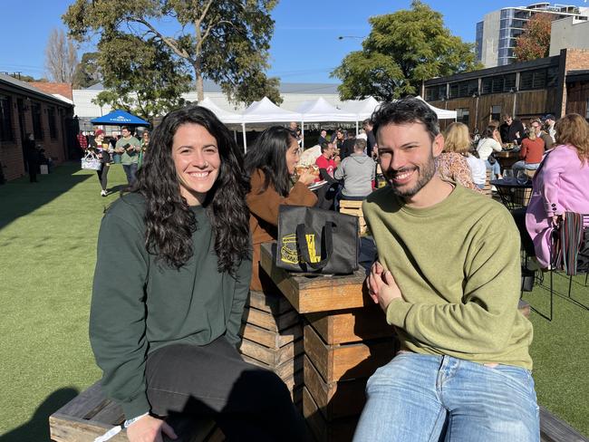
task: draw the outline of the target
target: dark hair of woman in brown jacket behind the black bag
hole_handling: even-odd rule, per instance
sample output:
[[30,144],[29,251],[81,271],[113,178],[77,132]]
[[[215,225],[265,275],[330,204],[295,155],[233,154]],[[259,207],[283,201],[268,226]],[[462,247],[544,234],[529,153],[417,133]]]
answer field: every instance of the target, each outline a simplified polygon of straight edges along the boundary
[[254,147],[247,149],[247,175],[251,177],[259,168],[266,177],[260,193],[272,185],[279,195],[288,195],[290,174],[286,167],[286,151],[293,141],[296,141],[296,132],[282,126],[272,126],[257,137]]

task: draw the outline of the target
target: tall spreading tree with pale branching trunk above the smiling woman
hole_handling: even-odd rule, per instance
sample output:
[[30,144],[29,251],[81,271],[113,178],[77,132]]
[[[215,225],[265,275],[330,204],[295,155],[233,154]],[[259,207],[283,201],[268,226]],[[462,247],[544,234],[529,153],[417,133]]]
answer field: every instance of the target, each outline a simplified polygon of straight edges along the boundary
[[[277,94],[275,81],[263,80],[276,0],[76,0],[63,21],[78,41],[92,33],[102,40],[123,34],[158,43],[194,72],[198,101],[203,79],[217,82],[231,101],[249,103],[246,85],[264,86]],[[169,28],[174,28],[169,30]],[[164,31],[166,29],[166,31]],[[168,32],[169,31],[169,32]],[[105,73],[106,76],[106,73]],[[256,88],[257,89],[257,88]]]

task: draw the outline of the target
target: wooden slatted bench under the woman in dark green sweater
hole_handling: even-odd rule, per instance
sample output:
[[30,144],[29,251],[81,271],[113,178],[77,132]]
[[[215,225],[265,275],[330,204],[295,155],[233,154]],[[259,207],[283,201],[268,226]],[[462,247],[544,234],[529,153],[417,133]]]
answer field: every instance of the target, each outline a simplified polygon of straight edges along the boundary
[[[121,407],[102,394],[100,381],[49,417],[51,440],[54,442],[93,442],[106,431],[124,421]],[[217,442],[224,440],[215,422],[210,419],[181,418],[171,422],[178,435],[176,442]],[[164,437],[169,441],[168,437]],[[110,442],[129,442],[121,431]]]

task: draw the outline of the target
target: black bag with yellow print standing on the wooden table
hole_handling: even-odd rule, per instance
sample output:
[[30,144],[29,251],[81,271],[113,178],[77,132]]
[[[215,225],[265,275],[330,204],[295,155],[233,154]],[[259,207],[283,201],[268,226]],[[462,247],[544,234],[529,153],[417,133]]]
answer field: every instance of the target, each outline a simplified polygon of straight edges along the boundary
[[358,269],[358,218],[316,207],[278,208],[277,267],[311,274]]

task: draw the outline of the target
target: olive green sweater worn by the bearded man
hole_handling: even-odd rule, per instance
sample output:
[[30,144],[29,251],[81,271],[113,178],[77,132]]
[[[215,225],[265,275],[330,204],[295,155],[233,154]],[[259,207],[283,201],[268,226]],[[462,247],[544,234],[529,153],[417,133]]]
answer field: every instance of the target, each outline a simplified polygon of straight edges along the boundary
[[410,208],[383,187],[362,210],[401,289],[386,312],[401,348],[531,370],[532,325],[517,311],[520,240],[505,207],[456,186]]

